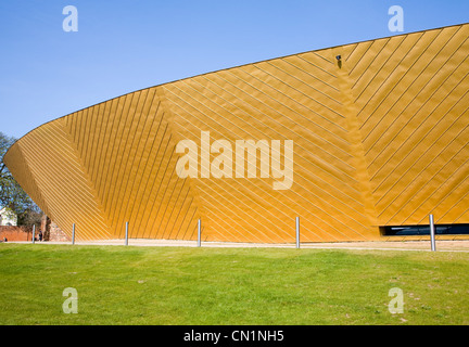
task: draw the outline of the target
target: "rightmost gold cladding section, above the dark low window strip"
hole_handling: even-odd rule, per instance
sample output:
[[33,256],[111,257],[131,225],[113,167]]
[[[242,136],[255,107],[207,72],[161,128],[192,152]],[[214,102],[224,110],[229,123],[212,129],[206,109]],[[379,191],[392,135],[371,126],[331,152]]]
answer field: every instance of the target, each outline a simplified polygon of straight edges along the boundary
[[352,54],[381,226],[427,223],[429,214],[453,223],[465,215],[468,37],[467,25],[454,26],[383,39],[383,49],[359,60]]

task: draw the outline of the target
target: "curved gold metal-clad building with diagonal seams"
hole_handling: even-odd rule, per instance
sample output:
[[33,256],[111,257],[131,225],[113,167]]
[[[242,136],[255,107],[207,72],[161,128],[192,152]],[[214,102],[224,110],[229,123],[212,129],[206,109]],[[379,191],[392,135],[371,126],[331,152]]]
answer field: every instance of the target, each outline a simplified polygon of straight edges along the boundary
[[[77,240],[383,240],[469,223],[469,25],[305,52],[115,98],[4,162]],[[382,230],[382,229],[381,229]]]

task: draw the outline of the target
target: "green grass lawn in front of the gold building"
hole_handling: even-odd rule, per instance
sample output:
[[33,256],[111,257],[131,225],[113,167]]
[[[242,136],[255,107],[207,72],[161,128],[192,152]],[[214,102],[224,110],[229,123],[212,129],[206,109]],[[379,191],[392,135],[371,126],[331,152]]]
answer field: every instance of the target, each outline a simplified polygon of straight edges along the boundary
[[468,284],[468,253],[0,244],[2,325],[466,325]]

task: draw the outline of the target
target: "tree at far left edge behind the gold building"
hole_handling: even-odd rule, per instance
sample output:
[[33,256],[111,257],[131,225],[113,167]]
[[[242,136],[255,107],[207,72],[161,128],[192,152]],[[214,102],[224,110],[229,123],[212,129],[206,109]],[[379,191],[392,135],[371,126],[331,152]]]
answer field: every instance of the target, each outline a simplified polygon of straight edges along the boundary
[[3,156],[15,141],[15,138],[8,137],[0,131],[0,206],[14,211],[18,216],[18,224],[37,223],[37,220],[40,222],[41,210],[16,182],[3,163]]

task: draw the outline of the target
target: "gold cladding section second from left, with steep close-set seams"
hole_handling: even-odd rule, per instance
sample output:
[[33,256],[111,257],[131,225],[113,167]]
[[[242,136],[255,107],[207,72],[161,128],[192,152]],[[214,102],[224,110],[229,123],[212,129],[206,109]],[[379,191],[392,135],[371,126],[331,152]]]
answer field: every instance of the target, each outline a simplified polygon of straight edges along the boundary
[[[197,206],[174,177],[174,143],[156,88],[127,94],[67,118],[116,237],[191,240]],[[182,209],[180,214],[179,211]]]

